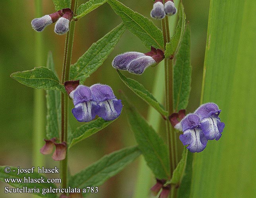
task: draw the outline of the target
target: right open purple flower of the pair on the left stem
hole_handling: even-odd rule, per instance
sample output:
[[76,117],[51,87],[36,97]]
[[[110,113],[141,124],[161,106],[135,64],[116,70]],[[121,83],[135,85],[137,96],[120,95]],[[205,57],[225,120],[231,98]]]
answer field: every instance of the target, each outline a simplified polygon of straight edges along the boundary
[[90,89],[100,106],[98,116],[104,120],[114,120],[121,114],[123,105],[121,100],[115,97],[110,86],[94,84]]

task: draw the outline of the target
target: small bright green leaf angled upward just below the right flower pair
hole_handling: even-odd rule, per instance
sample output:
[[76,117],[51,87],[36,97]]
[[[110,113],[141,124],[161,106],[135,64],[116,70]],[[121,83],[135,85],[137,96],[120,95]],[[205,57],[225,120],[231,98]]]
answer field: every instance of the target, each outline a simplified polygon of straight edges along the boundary
[[184,172],[186,169],[186,160],[188,156],[188,149],[186,147],[183,148],[182,157],[175,170],[173,171],[173,176],[171,178],[170,183],[172,184],[180,184],[182,177],[184,176]]

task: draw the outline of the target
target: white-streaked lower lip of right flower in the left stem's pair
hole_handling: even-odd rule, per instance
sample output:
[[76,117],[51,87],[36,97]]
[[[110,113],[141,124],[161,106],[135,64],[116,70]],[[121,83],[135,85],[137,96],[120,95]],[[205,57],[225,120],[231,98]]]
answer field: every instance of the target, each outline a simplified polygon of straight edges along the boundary
[[121,100],[118,99],[101,101],[98,104],[101,107],[98,111],[98,116],[104,120],[116,119],[118,116],[120,116],[123,107]]

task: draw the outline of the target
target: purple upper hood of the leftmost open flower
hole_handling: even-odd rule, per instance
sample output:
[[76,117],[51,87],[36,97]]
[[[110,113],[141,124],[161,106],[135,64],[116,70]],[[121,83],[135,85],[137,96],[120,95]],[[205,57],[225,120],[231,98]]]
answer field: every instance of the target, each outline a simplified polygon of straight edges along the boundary
[[91,89],[84,85],[79,85],[74,91],[70,92],[69,95],[73,99],[75,106],[78,103],[84,103],[86,101],[93,100]]

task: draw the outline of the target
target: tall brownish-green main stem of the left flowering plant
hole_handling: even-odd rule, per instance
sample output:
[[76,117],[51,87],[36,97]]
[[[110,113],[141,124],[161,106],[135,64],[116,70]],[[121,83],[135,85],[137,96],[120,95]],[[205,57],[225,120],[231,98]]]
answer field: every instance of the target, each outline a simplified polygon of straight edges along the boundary
[[[77,1],[71,1],[71,10],[76,13]],[[69,31],[66,33],[65,49],[64,49],[64,59],[62,67],[62,78],[61,83],[69,80],[70,75],[70,65],[72,59],[72,49],[74,42],[75,33],[75,21],[70,22]],[[67,142],[68,140],[68,95],[61,93],[61,142]],[[68,187],[68,150],[66,158],[60,161],[61,167],[61,178],[62,178],[62,188]]]

